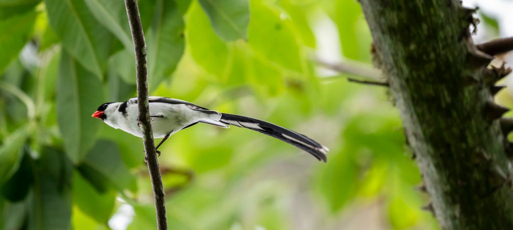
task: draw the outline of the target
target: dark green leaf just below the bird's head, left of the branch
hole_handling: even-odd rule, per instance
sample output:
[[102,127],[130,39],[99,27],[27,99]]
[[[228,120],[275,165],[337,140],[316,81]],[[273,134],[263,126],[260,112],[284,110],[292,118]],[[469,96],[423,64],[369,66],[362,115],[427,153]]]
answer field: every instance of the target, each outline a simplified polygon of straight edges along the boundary
[[[119,191],[124,189],[135,191],[137,189],[135,177],[123,163],[120,150],[114,142],[98,140],[80,167],[83,166],[93,172],[93,174],[84,175],[89,181],[106,180],[108,185]],[[91,178],[91,175],[101,178]]]

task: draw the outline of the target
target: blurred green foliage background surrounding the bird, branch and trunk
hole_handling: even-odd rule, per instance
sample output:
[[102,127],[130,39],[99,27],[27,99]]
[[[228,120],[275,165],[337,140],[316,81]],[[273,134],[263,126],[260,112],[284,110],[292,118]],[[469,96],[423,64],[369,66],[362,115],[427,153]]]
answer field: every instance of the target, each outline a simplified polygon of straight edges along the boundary
[[[481,8],[476,43],[513,35],[513,2],[463,4]],[[150,95],[330,148],[324,164],[238,127],[174,134],[159,157],[170,229],[438,229],[386,89],[348,82],[383,80],[357,1],[139,5]],[[142,140],[90,117],[136,96],[123,1],[0,0],[0,18],[0,229],[155,229]]]

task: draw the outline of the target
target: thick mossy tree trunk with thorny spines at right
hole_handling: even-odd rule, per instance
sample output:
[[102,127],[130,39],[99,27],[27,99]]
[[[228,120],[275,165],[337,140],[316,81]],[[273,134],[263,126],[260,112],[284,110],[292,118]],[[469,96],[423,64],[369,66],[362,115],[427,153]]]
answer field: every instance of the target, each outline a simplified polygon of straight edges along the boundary
[[375,64],[387,76],[443,229],[513,229],[508,143],[473,10],[456,0],[361,0]]

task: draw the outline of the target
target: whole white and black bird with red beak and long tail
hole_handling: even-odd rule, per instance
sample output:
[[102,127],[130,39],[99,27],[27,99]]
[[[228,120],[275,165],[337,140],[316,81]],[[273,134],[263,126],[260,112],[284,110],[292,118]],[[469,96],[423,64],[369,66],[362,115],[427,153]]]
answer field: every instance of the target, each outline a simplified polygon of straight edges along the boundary
[[[182,129],[198,123],[229,128],[234,125],[258,131],[307,151],[319,160],[326,162],[328,148],[307,136],[269,122],[244,116],[209,110],[190,102],[164,97],[149,97],[150,119],[154,138],[163,138],[158,149],[168,137]],[[104,103],[91,117],[102,119],[107,125],[142,137],[143,132],[137,121],[139,110],[137,98],[126,102]]]

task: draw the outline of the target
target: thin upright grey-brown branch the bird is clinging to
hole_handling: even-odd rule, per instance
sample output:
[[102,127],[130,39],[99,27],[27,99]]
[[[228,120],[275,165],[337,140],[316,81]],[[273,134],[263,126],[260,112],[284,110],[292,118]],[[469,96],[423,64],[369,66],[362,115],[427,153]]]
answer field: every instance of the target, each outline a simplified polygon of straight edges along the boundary
[[151,130],[150,114],[148,106],[148,80],[146,68],[146,42],[144,40],[143,26],[139,16],[139,7],[136,0],[125,0],[128,22],[132,32],[132,40],[135,51],[135,66],[137,75],[137,105],[139,107],[139,122],[143,131],[144,151],[146,162],[150,172],[151,185],[153,186],[153,197],[155,199],[155,211],[157,217],[157,229],[167,229],[166,198],[159,162],[153,143],[153,132]]

